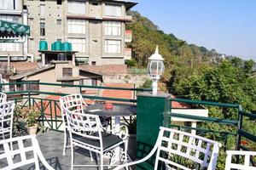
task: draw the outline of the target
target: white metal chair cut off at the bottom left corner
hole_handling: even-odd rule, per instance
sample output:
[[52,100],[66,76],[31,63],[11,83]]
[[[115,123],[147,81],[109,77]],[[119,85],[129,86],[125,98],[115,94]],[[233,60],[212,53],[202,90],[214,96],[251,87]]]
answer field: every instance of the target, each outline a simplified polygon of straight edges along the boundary
[[[26,144],[24,144],[25,141]],[[17,143],[17,147],[15,147],[15,150],[11,150],[9,148],[9,145],[12,143]],[[43,163],[44,167],[49,170],[54,170],[54,168],[50,167],[48,162],[44,159],[44,156],[38,144],[38,139],[36,139],[36,135],[28,135],[16,137],[13,139],[0,140],[0,148],[1,170],[16,169],[17,167],[23,167],[31,163],[34,163],[35,169],[39,170],[38,158]],[[14,161],[13,157],[19,158],[15,159]]]

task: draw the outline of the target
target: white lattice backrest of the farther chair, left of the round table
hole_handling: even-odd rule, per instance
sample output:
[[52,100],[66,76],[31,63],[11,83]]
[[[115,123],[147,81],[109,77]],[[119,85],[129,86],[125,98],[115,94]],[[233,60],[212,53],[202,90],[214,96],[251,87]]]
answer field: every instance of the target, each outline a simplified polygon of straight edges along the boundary
[[77,113],[84,113],[84,107],[87,106],[84,103],[84,99],[82,94],[71,94],[64,97],[61,97],[61,113],[62,115],[66,115],[67,113],[63,108],[68,111],[75,111]]

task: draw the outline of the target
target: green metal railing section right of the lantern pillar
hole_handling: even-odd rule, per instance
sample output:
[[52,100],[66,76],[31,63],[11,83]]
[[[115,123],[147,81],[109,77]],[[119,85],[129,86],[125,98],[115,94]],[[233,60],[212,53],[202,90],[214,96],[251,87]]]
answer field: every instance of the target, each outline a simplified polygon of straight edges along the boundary
[[[172,107],[172,102],[180,102],[184,104],[190,104],[190,105],[205,105],[205,106],[216,106],[216,107],[222,107],[222,108],[231,108],[234,109],[237,113],[236,119],[224,119],[224,118],[218,118],[218,117],[204,117],[204,116],[191,116],[191,115],[183,115],[178,114],[172,111],[174,109]],[[224,130],[212,130],[212,129],[205,129],[201,127],[189,127],[189,126],[181,126],[181,125],[175,125],[171,123],[171,127],[177,127],[179,129],[187,129],[187,130],[196,130],[197,133],[215,133],[218,134],[220,137],[224,140],[224,150],[225,144],[227,143],[227,139],[229,136],[236,138],[236,150],[250,150],[246,146],[244,146],[241,143],[241,138],[245,138],[247,140],[250,140],[252,142],[256,143],[256,136],[255,134],[248,133],[245,130],[243,130],[242,125],[244,118],[247,117],[250,120],[256,121],[256,115],[253,115],[252,113],[247,113],[245,111],[242,111],[241,105],[238,104],[224,104],[224,103],[218,103],[218,102],[208,102],[208,101],[196,101],[196,100],[190,100],[190,99],[170,99],[171,102],[171,111],[168,116],[170,117],[177,117],[177,118],[183,118],[183,119],[189,119],[189,120],[195,120],[200,122],[210,122],[210,123],[218,123],[222,124],[224,126],[229,126],[229,131]],[[256,123],[255,123],[256,125]],[[232,130],[232,132],[230,132]]]

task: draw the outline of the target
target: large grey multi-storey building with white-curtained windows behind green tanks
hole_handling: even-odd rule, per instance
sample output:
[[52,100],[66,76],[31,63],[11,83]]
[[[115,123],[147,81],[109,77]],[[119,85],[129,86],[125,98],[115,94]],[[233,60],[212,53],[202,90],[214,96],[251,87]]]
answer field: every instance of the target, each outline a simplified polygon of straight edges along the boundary
[[[137,3],[129,0],[2,0],[0,17],[31,26],[24,44],[0,43],[0,59],[38,58],[39,42],[71,42],[76,60],[90,65],[124,64],[131,58],[131,22],[126,11]],[[7,5],[6,5],[7,4]],[[2,6],[1,6],[2,5]],[[50,47],[49,47],[50,49]],[[14,58],[13,56],[16,56]]]

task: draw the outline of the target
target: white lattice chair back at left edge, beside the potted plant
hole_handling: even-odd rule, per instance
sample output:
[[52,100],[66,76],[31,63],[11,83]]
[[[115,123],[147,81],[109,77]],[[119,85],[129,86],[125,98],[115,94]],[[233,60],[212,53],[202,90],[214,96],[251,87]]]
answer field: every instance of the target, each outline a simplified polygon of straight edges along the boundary
[[0,104],[0,134],[10,133],[13,127],[15,101]]

